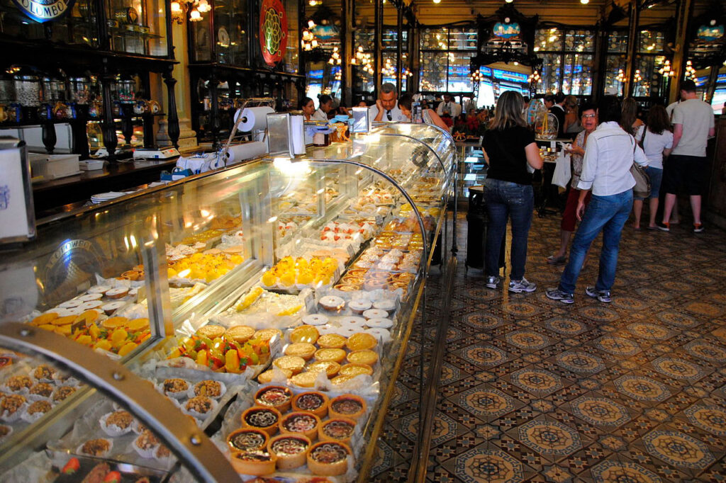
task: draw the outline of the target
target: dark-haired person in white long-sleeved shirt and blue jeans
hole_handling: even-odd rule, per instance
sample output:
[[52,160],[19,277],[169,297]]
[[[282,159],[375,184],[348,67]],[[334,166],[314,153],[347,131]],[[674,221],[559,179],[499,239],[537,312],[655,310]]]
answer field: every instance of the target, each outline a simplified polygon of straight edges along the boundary
[[[643,149],[635,139],[620,127],[621,108],[614,96],[604,96],[597,107],[600,125],[587,137],[582,160],[582,173],[577,183],[580,189],[576,215],[581,220],[570,249],[570,260],[560,277],[556,289],[545,294],[552,300],[566,304],[574,302],[575,284],[585,255],[595,237],[603,232],[603,251],[595,286],[587,286],[585,293],[600,302],[611,302],[610,290],[615,282],[618,265],[620,233],[630,215],[633,204],[632,187],[635,179],[630,174],[633,162],[648,165]],[[585,197],[592,189],[590,205],[585,210]]]

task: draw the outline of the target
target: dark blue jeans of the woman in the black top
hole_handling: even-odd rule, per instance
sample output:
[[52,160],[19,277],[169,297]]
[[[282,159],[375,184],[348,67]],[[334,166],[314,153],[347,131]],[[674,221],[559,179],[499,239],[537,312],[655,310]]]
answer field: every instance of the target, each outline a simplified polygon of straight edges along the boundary
[[532,224],[534,191],[531,185],[510,183],[487,178],[484,181],[486,212],[489,213],[489,228],[486,231],[486,253],[484,273],[499,275],[499,250],[507,230],[507,216],[512,218],[512,253],[510,276],[521,280],[527,261],[527,236]]

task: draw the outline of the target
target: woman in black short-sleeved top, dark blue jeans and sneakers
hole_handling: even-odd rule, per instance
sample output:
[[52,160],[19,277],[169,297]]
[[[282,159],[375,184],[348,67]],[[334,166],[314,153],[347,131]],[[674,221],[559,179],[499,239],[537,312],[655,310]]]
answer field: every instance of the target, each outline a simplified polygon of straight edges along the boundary
[[484,157],[489,164],[484,181],[484,199],[489,213],[486,232],[484,273],[486,286],[496,289],[499,276],[499,251],[502,247],[507,217],[512,219],[510,292],[534,292],[536,284],[524,278],[527,260],[527,236],[532,223],[534,191],[528,168],[542,168],[534,133],[524,120],[524,99],[515,91],[505,91],[497,100],[497,110],[484,136]]

